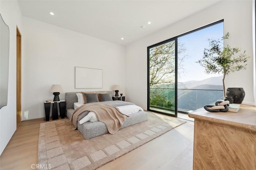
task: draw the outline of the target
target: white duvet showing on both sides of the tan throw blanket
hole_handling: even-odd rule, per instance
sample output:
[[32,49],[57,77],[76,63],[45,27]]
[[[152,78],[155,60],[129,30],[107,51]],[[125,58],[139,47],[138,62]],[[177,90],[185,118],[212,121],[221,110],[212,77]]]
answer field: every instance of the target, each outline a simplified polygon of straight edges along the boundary
[[[75,106],[75,103],[74,103]],[[137,113],[138,111],[143,111],[143,109],[137,105],[124,105],[117,107],[124,115],[129,115],[132,113]],[[89,112],[83,119],[79,121],[80,124],[85,122],[98,122],[97,116],[94,112]]]

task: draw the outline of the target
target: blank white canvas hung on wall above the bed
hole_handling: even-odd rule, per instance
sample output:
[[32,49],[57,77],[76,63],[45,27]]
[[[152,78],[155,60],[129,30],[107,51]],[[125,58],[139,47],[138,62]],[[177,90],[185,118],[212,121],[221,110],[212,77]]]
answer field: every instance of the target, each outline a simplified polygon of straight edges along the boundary
[[102,69],[75,67],[75,88],[94,89],[102,88]]

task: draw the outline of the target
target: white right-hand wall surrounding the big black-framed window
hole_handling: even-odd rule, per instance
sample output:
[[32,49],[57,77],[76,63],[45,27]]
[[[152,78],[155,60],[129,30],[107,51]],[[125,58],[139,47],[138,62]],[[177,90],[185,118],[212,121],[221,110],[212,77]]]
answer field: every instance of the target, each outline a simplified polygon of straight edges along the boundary
[[[148,46],[222,19],[224,19],[224,33],[230,33],[230,39],[225,43],[239,46],[252,56],[252,0],[219,2],[126,47],[126,98],[143,109],[147,109]],[[243,87],[246,93],[244,101],[254,102],[252,57],[247,63],[246,70],[228,75],[225,85],[226,87],[234,87],[236,84]]]

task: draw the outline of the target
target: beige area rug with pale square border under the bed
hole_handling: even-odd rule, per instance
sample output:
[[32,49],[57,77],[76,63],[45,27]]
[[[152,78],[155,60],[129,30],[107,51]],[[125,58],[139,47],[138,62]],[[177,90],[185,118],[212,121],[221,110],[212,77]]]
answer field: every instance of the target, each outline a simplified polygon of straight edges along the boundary
[[40,124],[38,169],[94,170],[186,123],[148,112],[148,121],[86,140],[68,119]]

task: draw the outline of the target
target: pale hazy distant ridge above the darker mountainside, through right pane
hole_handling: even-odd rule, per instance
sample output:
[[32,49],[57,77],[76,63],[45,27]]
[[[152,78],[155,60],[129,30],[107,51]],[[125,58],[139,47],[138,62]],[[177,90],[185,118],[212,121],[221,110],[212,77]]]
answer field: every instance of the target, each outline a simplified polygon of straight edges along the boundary
[[222,85],[222,78],[223,78],[222,76],[210,77],[208,79],[204,79],[200,81],[192,80],[192,81],[182,82],[179,84],[183,84],[188,89],[192,89],[198,85]]

